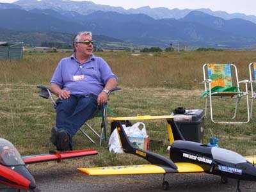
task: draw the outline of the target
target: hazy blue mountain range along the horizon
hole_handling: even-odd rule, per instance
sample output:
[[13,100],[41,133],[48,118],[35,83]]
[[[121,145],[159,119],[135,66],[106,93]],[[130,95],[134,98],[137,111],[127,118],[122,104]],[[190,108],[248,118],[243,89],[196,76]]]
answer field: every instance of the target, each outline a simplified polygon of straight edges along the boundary
[[[221,44],[227,48],[256,44],[254,22],[239,18],[223,19],[205,13],[207,10],[149,7],[124,10],[89,1],[61,0],[20,0],[13,4],[0,3],[0,9],[1,28],[30,31],[30,34],[56,31],[60,35],[60,32],[75,33],[87,29],[96,35],[115,37],[108,39],[116,42],[159,47],[168,47],[173,42],[212,47]],[[148,10],[158,15],[145,14]],[[164,18],[169,17],[171,12],[177,12],[174,14],[176,18]],[[181,12],[183,17],[179,16]],[[1,36],[0,41],[3,41]]]

